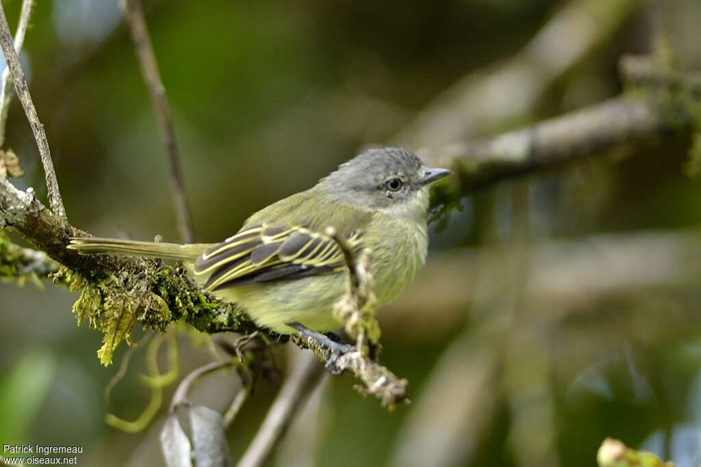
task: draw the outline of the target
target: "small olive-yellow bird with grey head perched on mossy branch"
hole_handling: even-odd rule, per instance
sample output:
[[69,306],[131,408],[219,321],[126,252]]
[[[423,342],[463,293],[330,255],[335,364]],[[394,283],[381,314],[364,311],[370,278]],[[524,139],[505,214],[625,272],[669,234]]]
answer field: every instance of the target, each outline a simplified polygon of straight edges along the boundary
[[218,244],[74,238],[81,254],[112,253],[182,260],[200,287],[237,302],[261,327],[297,332],[290,323],[326,332],[341,323],[333,305],[346,292],[343,251],[370,250],[376,305],[400,294],[426,260],[428,189],[450,174],[403,148],[373,148],[343,163],[313,188],[275,202]]

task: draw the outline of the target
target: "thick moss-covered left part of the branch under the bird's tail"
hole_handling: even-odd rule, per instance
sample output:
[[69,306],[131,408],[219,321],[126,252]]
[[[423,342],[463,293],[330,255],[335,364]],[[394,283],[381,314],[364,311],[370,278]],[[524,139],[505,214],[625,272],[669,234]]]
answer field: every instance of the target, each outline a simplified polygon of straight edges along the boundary
[[[79,323],[87,321],[104,333],[98,351],[104,365],[111,363],[122,340],[130,342],[136,323],[159,331],[181,320],[205,333],[257,330],[243,309],[201,292],[182,265],[144,258],[80,256],[66,249],[70,237],[83,237],[86,232],[55,216],[34,197],[33,190],[18,190],[5,179],[0,179],[0,227],[16,232],[36,251],[60,264],[53,281],[80,293],[73,310]],[[7,239],[2,244],[4,251],[19,248]],[[13,258],[12,267],[21,265],[16,256],[4,258]]]

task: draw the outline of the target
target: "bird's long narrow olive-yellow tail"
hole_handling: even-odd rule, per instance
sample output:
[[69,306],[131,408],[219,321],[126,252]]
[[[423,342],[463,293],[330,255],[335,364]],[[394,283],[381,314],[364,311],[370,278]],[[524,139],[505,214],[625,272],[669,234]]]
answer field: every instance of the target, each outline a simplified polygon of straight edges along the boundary
[[67,246],[81,255],[109,253],[125,256],[148,256],[168,260],[194,261],[210,244],[177,244],[163,242],[135,242],[114,238],[72,238]]

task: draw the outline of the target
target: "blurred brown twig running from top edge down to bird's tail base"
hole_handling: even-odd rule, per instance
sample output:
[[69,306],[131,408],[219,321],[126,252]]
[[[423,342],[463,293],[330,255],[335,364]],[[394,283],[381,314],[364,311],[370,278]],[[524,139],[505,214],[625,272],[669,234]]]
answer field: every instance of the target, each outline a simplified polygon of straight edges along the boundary
[[144,81],[146,81],[151,93],[151,99],[153,99],[156,107],[156,116],[158,117],[158,124],[161,126],[165,151],[168,153],[170,184],[175,200],[175,209],[177,209],[180,237],[182,237],[184,242],[192,243],[195,236],[190,210],[187,206],[182,165],[175,141],[175,132],[173,132],[172,118],[170,117],[170,105],[165,95],[161,74],[158,71],[158,63],[156,62],[156,55],[154,55],[154,48],[151,45],[149,29],[146,25],[146,20],[144,20],[144,10],[141,0],[123,0],[123,7],[136,47],[137,57],[139,57],[139,64],[141,64],[141,70],[144,74]]

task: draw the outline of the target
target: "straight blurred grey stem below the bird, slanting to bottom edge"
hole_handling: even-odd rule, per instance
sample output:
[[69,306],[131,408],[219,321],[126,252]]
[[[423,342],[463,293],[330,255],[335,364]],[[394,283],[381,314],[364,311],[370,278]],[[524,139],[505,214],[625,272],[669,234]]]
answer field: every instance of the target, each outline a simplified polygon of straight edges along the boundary
[[266,465],[297,410],[321,381],[324,370],[316,358],[305,353],[300,359],[268,410],[256,437],[238,461],[238,467]]

